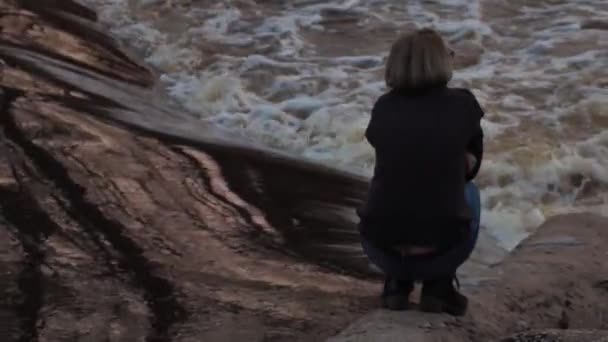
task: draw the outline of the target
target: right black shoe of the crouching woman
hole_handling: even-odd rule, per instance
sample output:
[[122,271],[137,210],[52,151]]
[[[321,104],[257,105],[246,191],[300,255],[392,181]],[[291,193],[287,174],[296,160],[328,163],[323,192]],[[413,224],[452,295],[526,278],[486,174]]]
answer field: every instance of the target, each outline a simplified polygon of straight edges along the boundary
[[[456,287],[454,287],[454,281]],[[425,281],[420,297],[420,310],[463,316],[467,312],[469,300],[458,292],[458,288],[460,288],[460,284],[456,276]]]

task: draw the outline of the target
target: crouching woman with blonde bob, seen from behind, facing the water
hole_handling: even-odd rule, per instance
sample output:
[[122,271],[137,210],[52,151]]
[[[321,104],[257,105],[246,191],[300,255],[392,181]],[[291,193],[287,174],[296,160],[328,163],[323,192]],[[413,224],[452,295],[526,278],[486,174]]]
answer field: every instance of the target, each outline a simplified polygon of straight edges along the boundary
[[388,91],[366,130],[376,164],[359,228],[365,253],[385,274],[383,303],[393,310],[408,308],[418,281],[421,310],[467,309],[454,283],[479,231],[472,180],[482,160],[484,113],[471,91],[448,87],[453,57],[433,30],[401,36],[386,63]]

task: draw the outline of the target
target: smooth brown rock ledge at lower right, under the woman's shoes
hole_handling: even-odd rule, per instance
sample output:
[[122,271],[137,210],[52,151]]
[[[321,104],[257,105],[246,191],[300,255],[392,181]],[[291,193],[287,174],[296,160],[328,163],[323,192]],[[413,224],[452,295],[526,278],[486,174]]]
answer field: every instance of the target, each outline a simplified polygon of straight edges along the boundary
[[465,288],[466,317],[376,311],[330,341],[604,341],[607,239],[604,217],[554,217]]

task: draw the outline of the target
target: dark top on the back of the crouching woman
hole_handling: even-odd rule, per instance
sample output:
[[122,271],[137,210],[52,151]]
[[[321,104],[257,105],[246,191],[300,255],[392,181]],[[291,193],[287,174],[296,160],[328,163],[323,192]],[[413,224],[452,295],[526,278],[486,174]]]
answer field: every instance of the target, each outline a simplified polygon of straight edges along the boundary
[[[376,165],[361,234],[383,245],[445,246],[471,220],[465,182],[483,156],[484,113],[472,92],[445,86],[418,93],[396,90],[374,104],[366,138]],[[469,171],[466,153],[476,165]]]

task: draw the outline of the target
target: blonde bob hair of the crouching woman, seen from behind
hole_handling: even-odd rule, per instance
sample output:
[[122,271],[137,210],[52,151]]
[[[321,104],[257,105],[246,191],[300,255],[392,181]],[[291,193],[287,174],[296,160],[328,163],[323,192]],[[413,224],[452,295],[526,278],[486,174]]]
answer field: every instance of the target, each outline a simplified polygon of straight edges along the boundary
[[446,85],[452,79],[452,56],[435,30],[404,34],[393,43],[386,61],[386,85],[413,91]]

